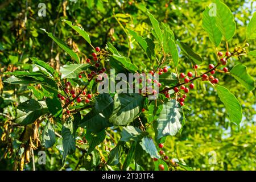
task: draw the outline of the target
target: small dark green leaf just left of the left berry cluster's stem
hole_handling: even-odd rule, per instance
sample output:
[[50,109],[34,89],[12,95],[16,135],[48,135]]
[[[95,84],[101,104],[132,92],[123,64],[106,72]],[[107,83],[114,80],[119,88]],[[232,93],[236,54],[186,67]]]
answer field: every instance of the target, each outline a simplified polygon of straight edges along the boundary
[[46,104],[53,117],[62,117],[62,106],[56,97],[53,97],[52,99],[47,97]]

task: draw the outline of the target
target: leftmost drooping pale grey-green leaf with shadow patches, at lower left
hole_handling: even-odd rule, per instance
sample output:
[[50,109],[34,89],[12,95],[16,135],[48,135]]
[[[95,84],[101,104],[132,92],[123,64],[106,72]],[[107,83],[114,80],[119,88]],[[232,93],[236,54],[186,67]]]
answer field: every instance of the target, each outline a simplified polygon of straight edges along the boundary
[[44,127],[43,134],[42,134],[42,144],[46,148],[50,148],[55,144],[56,137],[54,131],[54,125],[51,122],[47,122],[46,126]]

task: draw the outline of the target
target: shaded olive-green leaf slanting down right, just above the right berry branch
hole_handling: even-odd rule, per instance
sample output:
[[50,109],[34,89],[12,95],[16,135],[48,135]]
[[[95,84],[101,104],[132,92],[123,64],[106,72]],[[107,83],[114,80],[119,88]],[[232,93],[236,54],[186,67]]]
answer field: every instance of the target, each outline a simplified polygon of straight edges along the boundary
[[195,64],[201,64],[203,59],[200,55],[195,53],[187,44],[183,42],[177,42],[181,51],[184,53],[184,56],[186,56],[189,60],[192,61],[193,65]]

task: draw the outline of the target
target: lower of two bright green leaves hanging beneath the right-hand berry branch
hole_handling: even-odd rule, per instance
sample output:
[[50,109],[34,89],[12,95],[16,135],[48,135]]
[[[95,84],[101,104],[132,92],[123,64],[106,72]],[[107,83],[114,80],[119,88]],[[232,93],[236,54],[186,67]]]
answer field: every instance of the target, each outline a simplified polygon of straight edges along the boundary
[[224,86],[216,85],[216,89],[218,97],[220,97],[220,100],[226,107],[230,121],[240,129],[240,122],[242,121],[242,107],[240,102]]

